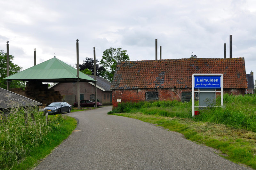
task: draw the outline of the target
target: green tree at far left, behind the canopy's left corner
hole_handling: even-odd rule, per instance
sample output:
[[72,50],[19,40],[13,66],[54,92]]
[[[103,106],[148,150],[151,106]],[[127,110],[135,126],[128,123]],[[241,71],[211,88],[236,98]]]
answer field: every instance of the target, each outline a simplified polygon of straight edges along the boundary
[[[14,56],[9,55],[9,57],[10,57],[10,69],[9,69],[10,75],[20,72],[22,67],[18,66],[17,64],[12,63]],[[6,58],[7,57],[6,57],[6,53],[4,53],[4,50],[0,50],[0,87],[3,89],[6,89],[6,87],[7,87],[6,80],[4,79],[5,77],[7,77]],[[24,88],[24,87],[25,87],[25,82],[22,82],[22,81],[13,80],[10,83],[10,89]]]

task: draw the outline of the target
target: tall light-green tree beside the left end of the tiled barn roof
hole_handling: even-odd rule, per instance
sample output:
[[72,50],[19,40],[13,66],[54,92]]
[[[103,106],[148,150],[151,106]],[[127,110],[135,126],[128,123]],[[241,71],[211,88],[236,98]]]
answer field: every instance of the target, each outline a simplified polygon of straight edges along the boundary
[[103,52],[102,59],[100,60],[100,64],[106,69],[103,77],[108,81],[113,80],[113,76],[116,70],[117,61],[127,61],[129,60],[128,54],[126,54],[126,50],[122,50],[122,48],[113,48]]

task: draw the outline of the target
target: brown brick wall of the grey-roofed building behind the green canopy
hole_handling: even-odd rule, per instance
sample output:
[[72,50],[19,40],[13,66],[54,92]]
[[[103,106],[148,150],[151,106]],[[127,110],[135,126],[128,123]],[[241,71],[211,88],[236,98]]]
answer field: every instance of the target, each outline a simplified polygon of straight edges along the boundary
[[[94,94],[94,86],[88,82],[80,82],[79,86],[80,86],[80,94],[84,95],[84,100],[90,100],[90,95]],[[69,104],[74,104],[74,102],[77,102],[77,97],[76,97],[77,84],[76,83],[58,83],[52,88],[54,90],[60,91],[60,94],[64,97],[66,95],[75,95],[74,100],[72,100],[72,103],[69,103]],[[111,101],[110,101],[111,93],[112,93],[111,91],[102,91],[101,89],[97,88],[97,99],[99,99],[102,104],[111,104]],[[106,99],[104,99],[104,94],[106,95]],[[109,98],[107,98],[107,96],[109,96]],[[63,101],[64,100],[65,98],[63,98]]]

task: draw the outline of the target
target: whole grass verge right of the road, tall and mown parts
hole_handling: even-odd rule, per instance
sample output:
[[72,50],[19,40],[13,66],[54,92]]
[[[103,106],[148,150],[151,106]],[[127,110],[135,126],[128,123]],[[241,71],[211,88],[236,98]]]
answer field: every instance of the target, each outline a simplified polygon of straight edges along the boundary
[[[192,118],[192,102],[121,103],[109,112],[156,124],[219,150],[235,163],[256,169],[256,96],[224,94],[224,107],[204,109]],[[217,98],[220,104],[220,98]],[[197,103],[198,104],[198,103]]]

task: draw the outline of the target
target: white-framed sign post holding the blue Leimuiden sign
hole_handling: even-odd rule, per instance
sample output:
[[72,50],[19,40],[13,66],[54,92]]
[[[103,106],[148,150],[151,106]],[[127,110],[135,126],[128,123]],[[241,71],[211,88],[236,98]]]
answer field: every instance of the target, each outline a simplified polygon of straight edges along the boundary
[[[198,91],[195,91],[198,89]],[[203,90],[200,90],[203,89]],[[205,90],[204,90],[205,89]],[[207,89],[207,90],[206,90]],[[209,89],[212,89],[209,90]],[[216,91],[216,89],[221,89]],[[195,116],[195,92],[220,92],[221,106],[223,106],[223,74],[192,74],[192,116]]]

